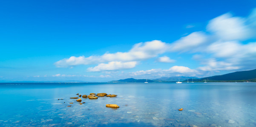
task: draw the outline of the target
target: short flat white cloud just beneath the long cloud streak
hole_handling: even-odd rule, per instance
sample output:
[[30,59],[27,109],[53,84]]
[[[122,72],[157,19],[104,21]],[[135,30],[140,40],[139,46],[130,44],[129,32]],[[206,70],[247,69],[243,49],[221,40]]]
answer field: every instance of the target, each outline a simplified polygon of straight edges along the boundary
[[134,68],[136,64],[137,64],[136,61],[131,61],[131,62],[112,61],[109,63],[101,63],[95,67],[89,67],[87,70],[89,72],[114,71],[114,70]]

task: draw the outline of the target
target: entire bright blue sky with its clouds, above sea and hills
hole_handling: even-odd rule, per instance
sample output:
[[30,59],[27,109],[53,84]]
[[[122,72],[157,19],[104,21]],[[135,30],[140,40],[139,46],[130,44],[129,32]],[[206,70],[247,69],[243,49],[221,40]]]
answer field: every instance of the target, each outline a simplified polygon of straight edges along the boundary
[[1,1],[0,81],[256,69],[255,8],[255,0]]

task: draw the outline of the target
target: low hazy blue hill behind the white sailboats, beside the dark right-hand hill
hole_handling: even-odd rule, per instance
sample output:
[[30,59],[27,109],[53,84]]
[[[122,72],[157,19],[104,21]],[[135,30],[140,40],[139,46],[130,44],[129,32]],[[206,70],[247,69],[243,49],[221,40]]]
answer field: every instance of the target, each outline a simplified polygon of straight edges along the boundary
[[191,79],[191,81],[192,81],[192,78],[198,79],[198,77],[176,76],[176,77],[161,77],[158,79],[154,79],[153,81],[155,81],[155,82],[177,82],[178,80],[184,81],[184,80],[188,80],[188,79]]

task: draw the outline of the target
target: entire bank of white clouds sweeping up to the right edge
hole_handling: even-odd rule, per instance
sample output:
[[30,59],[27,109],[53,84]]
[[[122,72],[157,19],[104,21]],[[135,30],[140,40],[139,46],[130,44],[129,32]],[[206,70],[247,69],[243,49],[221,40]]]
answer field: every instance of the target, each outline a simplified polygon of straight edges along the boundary
[[[187,26],[192,27],[192,26]],[[149,69],[131,72],[133,75],[164,75],[170,73],[196,73],[238,70],[255,68],[256,42],[247,41],[256,39],[256,9],[248,17],[233,17],[227,13],[213,18],[205,27],[206,30],[195,31],[180,39],[166,43],[158,40],[134,44],[127,52],[105,53],[99,56],[72,56],[55,62],[57,67],[71,67],[76,65],[97,65],[89,67],[89,72],[106,72],[131,69],[143,64],[150,58],[157,58],[158,62],[173,63],[172,56],[159,55],[165,53],[187,53],[192,60],[201,65],[190,69],[185,66],[173,66],[170,69]],[[246,41],[246,42],[245,42]],[[178,61],[177,61],[178,63]],[[55,75],[57,76],[57,75]],[[60,75],[59,75],[60,76]]]

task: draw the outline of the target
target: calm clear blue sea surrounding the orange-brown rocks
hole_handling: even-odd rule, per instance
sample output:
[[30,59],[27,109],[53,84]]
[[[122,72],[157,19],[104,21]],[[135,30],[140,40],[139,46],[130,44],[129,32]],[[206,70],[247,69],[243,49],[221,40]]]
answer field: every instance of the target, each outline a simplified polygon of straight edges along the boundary
[[255,98],[256,83],[0,83],[0,126],[255,127]]

